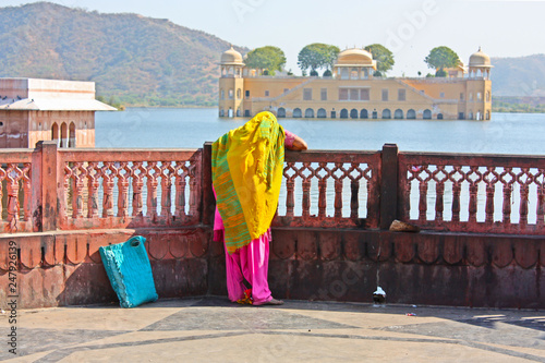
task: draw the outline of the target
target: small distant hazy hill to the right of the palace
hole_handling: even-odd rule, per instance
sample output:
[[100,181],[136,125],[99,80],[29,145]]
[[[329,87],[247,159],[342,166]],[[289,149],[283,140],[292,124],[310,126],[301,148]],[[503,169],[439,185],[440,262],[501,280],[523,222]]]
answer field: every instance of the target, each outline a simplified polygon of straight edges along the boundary
[[545,97],[545,55],[491,61],[494,96]]

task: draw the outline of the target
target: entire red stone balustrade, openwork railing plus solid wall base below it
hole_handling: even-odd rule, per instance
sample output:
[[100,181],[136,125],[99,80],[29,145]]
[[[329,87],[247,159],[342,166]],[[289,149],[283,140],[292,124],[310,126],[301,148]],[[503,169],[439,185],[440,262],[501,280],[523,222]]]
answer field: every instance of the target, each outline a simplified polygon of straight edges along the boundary
[[[226,294],[211,241],[211,144],[0,152],[0,285],[20,306],[116,301],[98,247],[147,240],[159,295]],[[272,223],[278,298],[544,308],[545,161],[533,156],[287,152]],[[390,232],[399,219],[420,233]],[[0,304],[7,300],[0,291]]]

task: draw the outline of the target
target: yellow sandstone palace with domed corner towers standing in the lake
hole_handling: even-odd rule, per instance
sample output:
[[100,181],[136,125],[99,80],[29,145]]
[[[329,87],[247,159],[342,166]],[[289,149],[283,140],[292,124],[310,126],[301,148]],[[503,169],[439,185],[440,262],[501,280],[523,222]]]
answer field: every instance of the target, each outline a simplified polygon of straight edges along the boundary
[[376,61],[359,48],[341,51],[331,76],[269,76],[242,55],[221,55],[219,116],[279,118],[489,120],[491,58],[481,49],[446,77],[376,77]]

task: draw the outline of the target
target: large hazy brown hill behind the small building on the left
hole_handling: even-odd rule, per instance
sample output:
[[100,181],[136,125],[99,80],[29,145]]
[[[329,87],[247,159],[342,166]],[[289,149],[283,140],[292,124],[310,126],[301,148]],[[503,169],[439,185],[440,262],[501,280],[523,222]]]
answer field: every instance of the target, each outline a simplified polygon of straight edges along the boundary
[[0,76],[93,81],[97,95],[130,106],[216,105],[230,47],[168,20],[48,2],[0,8]]

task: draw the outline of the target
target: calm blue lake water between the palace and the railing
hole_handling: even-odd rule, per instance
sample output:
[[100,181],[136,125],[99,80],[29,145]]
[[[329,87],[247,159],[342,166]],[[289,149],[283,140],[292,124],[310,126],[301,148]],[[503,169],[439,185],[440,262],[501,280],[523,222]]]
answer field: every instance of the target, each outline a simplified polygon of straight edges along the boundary
[[[96,113],[96,147],[197,148],[247,118],[219,118],[217,108],[129,108]],[[545,155],[544,113],[493,113],[491,121],[280,119],[311,149]]]

